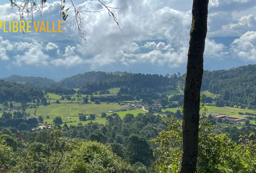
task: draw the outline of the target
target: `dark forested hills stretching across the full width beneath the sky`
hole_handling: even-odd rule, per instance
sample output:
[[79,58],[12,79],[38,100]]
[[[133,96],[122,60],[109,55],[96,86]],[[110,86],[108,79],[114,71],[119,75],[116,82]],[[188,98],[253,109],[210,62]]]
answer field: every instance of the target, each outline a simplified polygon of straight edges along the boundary
[[[249,107],[249,109],[256,108],[256,65],[240,66],[231,68],[229,70],[218,71],[204,71],[202,79],[201,91],[208,90],[213,94],[218,94],[216,98],[210,98],[202,95],[203,100],[208,103],[214,103],[218,107],[234,105],[239,107]],[[40,77],[22,77],[22,76],[9,76],[4,80],[25,82],[33,86],[40,86],[40,89],[46,92],[55,94],[74,94],[74,88],[80,88],[77,93],[80,94],[93,94],[94,92],[101,91],[100,94],[106,94],[106,90],[121,87],[123,88],[117,97],[92,97],[101,99],[101,101],[122,101],[122,100],[138,100],[143,98],[159,99],[159,94],[165,91],[175,90],[178,86],[184,84],[184,75],[162,76],[158,74],[132,74],[127,72],[119,72],[116,74],[106,73],[103,71],[90,71],[85,74],[77,74],[68,78],[62,79],[59,82],[54,80]],[[1,81],[3,83],[3,81]],[[15,85],[15,84],[12,84]],[[23,85],[24,87],[25,85]],[[32,88],[32,86],[26,86]],[[1,84],[0,87],[0,102],[10,100],[21,102],[21,100],[29,101],[35,96],[35,92],[8,92],[7,87]],[[34,89],[35,90],[35,89]],[[38,92],[38,89],[36,89]],[[105,91],[105,92],[103,92]],[[14,97],[16,94],[16,97]],[[38,97],[41,97],[39,94]],[[21,99],[26,97],[26,99]],[[171,101],[183,102],[183,98],[176,96]],[[180,105],[180,104],[178,104]]]

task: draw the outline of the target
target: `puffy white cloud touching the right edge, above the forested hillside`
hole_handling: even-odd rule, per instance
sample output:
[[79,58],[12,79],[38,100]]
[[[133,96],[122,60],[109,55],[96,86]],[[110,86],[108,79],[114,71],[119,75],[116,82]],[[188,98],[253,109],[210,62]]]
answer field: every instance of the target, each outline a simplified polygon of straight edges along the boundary
[[256,32],[248,31],[234,40],[231,52],[242,61],[256,61]]

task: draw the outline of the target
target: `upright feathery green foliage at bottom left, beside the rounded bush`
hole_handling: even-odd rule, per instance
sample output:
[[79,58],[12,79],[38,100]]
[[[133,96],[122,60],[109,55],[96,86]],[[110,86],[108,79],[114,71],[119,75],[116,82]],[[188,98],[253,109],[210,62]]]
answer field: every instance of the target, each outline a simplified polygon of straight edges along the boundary
[[25,156],[17,158],[10,172],[69,172],[70,151],[73,144],[55,127],[47,143],[32,143]]

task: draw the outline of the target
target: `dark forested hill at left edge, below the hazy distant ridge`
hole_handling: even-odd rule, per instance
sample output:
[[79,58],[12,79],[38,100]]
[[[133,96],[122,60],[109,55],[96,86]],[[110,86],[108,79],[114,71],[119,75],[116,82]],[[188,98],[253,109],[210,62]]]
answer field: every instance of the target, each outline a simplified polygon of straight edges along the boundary
[[0,102],[31,102],[33,97],[43,97],[43,92],[35,86],[0,80]]

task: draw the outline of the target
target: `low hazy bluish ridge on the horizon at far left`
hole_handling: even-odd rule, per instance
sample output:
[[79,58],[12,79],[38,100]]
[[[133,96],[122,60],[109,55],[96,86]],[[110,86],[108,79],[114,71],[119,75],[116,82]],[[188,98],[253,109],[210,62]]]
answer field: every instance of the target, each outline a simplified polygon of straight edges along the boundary
[[56,84],[56,81],[48,78],[19,75],[12,75],[4,78],[4,81],[17,82],[20,84],[31,84],[33,86],[51,86]]

